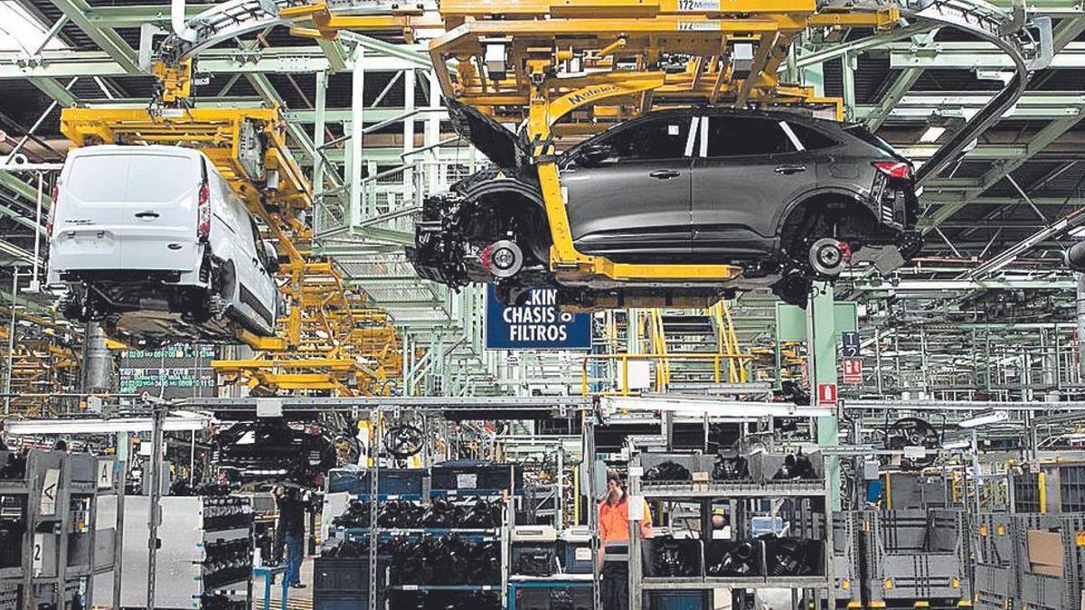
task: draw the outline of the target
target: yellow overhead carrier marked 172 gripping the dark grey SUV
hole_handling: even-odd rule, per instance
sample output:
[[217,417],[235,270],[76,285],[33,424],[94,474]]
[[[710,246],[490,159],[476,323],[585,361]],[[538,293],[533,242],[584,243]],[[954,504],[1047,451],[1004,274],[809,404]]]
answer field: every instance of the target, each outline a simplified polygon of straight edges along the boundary
[[[280,16],[294,31],[333,38],[341,29],[393,30],[411,39],[436,15],[340,15],[324,3]],[[430,45],[445,96],[498,120],[526,122],[552,233],[550,270],[559,282],[718,282],[728,265],[643,265],[585,255],[573,245],[556,164],[554,138],[590,134],[658,107],[691,103],[804,104],[842,118],[839,99],[780,82],[793,38],[808,27],[884,29],[895,4],[818,10],[814,0],[444,0],[445,31]]]

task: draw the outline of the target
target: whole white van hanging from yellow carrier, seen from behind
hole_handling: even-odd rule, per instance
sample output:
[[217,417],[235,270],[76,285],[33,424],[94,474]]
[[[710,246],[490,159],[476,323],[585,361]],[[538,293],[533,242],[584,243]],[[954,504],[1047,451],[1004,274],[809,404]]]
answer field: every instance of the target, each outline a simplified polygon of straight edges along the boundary
[[68,287],[66,316],[145,343],[275,334],[275,247],[202,152],[76,149],[54,194],[48,282]]

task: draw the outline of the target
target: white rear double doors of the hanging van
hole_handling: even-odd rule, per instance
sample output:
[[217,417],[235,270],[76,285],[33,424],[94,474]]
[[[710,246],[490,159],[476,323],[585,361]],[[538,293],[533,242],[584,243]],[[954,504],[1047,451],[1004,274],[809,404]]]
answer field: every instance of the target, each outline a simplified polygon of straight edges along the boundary
[[191,270],[201,163],[171,147],[74,154],[58,193],[53,264],[59,270]]

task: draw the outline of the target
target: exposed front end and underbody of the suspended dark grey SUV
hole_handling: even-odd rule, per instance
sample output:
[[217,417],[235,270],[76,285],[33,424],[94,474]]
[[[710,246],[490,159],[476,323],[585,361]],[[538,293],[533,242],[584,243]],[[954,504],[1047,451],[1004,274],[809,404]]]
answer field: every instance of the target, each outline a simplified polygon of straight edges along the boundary
[[480,205],[464,192],[469,189],[458,187],[425,200],[408,258],[421,277],[454,289],[471,282],[496,283],[498,297],[509,304],[519,303],[532,288],[556,288],[561,303],[571,309],[703,307],[740,290],[768,288],[786,303],[805,307],[813,281],[832,281],[859,260],[890,271],[922,243],[918,236],[904,233],[879,236],[866,244],[851,236],[804,237],[792,246],[800,253],[737,262],[742,272],[728,280],[615,280],[600,275],[559,279],[547,263],[546,227],[524,231],[529,223]]

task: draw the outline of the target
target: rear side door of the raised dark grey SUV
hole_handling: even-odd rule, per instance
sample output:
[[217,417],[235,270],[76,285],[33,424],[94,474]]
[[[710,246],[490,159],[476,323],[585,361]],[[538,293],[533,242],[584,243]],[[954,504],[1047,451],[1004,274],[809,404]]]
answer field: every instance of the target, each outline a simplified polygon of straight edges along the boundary
[[779,212],[816,183],[816,167],[783,120],[716,115],[693,162],[693,251],[756,258],[773,251]]

